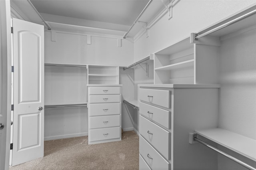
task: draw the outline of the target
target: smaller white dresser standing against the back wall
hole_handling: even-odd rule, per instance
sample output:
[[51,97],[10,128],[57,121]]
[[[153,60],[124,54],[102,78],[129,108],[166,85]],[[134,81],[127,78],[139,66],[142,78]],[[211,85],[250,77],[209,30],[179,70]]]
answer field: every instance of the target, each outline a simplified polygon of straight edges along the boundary
[[88,144],[121,140],[121,86],[88,85]]

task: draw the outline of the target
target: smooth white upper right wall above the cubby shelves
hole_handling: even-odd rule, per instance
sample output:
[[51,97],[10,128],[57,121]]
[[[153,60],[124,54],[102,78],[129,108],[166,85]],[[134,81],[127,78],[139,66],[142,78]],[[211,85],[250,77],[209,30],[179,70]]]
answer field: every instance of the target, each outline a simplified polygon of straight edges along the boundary
[[199,32],[224,18],[254,4],[255,0],[179,0],[174,3],[172,18],[167,13],[134,42],[134,61],[156,53]]

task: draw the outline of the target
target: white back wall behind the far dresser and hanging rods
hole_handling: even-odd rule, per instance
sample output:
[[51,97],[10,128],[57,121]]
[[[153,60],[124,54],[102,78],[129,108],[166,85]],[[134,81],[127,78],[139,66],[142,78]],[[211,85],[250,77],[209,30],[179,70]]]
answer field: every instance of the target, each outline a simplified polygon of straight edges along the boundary
[[[56,42],[51,32],[45,32],[45,63],[73,63],[91,65],[127,66],[132,63],[133,42],[122,40],[118,47],[117,38],[92,36],[87,44],[87,36],[56,32]],[[45,103],[60,105],[87,102],[87,69],[84,67],[45,66]],[[133,73],[132,73],[133,74]],[[123,96],[127,96],[125,78]],[[128,87],[130,88],[130,86]],[[134,91],[130,89],[130,91]],[[122,105],[123,106],[123,105]],[[125,108],[122,108],[122,128],[132,130],[133,125]],[[88,134],[88,109],[68,107],[45,109],[45,139],[52,140]]]

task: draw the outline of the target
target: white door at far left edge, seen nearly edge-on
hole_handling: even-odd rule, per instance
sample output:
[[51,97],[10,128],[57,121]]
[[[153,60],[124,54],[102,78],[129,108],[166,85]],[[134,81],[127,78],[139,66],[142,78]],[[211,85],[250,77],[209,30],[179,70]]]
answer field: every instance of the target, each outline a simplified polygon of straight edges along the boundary
[[0,140],[0,169],[9,169],[11,132],[11,15],[10,0],[0,0],[0,122],[4,123]]

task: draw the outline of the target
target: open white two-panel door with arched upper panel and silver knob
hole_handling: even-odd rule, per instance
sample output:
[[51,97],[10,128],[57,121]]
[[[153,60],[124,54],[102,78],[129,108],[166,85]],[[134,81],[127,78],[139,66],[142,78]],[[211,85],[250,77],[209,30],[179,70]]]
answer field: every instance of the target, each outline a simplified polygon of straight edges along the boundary
[[44,26],[13,18],[12,166],[44,156]]

